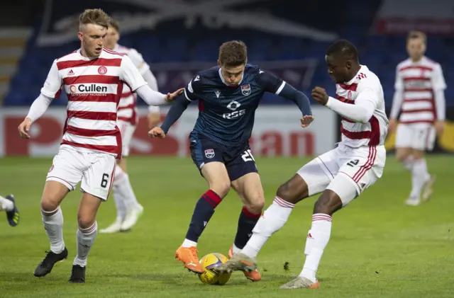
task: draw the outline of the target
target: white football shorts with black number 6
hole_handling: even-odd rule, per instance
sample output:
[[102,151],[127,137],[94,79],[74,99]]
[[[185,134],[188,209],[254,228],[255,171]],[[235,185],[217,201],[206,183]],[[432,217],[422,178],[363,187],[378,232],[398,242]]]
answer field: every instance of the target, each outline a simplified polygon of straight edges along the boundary
[[69,190],[74,190],[82,181],[82,192],[107,200],[115,166],[116,159],[111,154],[62,145],[52,161],[46,181],[60,182]]

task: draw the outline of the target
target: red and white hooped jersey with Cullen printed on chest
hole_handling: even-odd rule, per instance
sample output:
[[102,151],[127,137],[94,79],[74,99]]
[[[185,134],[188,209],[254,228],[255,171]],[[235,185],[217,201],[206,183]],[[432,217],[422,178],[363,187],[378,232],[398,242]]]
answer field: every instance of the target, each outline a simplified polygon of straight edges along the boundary
[[77,50],[55,59],[41,93],[55,98],[64,88],[68,95],[62,144],[121,156],[116,120],[123,82],[132,90],[147,84],[126,55],[104,49],[93,59]]

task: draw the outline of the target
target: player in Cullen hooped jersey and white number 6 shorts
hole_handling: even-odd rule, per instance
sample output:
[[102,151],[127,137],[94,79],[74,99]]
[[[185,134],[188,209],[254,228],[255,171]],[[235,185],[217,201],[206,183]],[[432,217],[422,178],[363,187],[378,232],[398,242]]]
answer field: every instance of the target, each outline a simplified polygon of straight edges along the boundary
[[33,121],[47,110],[62,88],[68,95],[67,120],[62,144],[54,157],[41,198],[43,224],[50,251],[34,275],[50,273],[57,261],[67,258],[63,241],[60,202],[82,181],[82,200],[77,214],[77,256],[70,282],[85,282],[87,257],[96,239],[96,212],[107,200],[116,159],[121,158],[121,134],[116,126],[117,106],[126,82],[148,104],[172,101],[181,91],[164,95],[153,91],[126,55],[105,50],[109,16],[101,9],[87,9],[79,17],[79,50],[55,59],[40,96],[31,105],[18,130],[23,138]]

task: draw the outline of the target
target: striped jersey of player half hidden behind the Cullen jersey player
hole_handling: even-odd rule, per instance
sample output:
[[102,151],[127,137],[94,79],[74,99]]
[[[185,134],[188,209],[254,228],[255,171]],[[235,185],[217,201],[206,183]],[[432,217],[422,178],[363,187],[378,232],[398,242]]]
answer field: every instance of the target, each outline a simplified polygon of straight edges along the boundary
[[[141,75],[145,74],[145,72],[150,69],[150,66],[145,62],[142,55],[136,50],[117,44],[114,51],[128,55]],[[129,122],[131,125],[136,125],[138,122],[138,113],[137,108],[135,107],[136,103],[137,95],[133,93],[128,84],[123,84],[123,91],[121,93],[120,103],[118,104],[118,120]]]

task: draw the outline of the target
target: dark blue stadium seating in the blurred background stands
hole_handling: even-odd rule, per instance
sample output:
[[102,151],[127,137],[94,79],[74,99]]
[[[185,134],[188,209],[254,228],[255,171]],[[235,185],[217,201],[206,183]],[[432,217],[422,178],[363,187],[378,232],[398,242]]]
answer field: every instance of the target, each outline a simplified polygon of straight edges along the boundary
[[[348,2],[344,22],[337,32],[342,38],[355,42],[360,50],[360,61],[366,64],[380,77],[384,86],[387,105],[392,101],[394,91],[394,74],[398,62],[406,58],[404,36],[369,35],[368,30],[377,11],[380,1]],[[357,13],[362,11],[362,13]],[[358,17],[360,16],[360,17]],[[159,32],[159,30],[156,30]],[[334,86],[326,74],[324,52],[327,42],[316,42],[309,38],[289,38],[260,33],[257,31],[235,32],[222,31],[223,34],[211,33],[201,35],[181,32],[170,35],[141,31],[122,36],[121,44],[135,47],[150,64],[162,62],[213,62],[216,63],[218,45],[228,39],[242,39],[248,45],[250,62],[273,60],[297,60],[307,57],[319,59],[319,67],[314,72],[312,86],[325,86],[333,92]],[[61,47],[37,47],[33,41],[28,42],[26,55],[18,66],[18,72],[11,81],[11,91],[4,98],[4,105],[29,105],[38,95],[45,80],[52,59],[71,52],[78,47],[77,42]],[[454,42],[443,37],[428,38],[427,56],[440,62],[448,83],[445,93],[448,105],[454,105]],[[152,69],[153,70],[153,69]],[[167,91],[167,90],[162,90]],[[309,90],[305,90],[309,91]],[[55,105],[65,104],[65,96]],[[267,101],[273,103],[273,101]],[[282,101],[279,101],[282,103]]]

